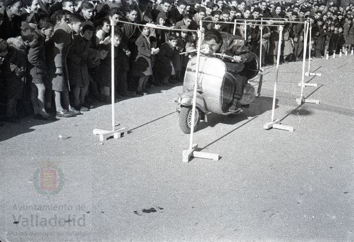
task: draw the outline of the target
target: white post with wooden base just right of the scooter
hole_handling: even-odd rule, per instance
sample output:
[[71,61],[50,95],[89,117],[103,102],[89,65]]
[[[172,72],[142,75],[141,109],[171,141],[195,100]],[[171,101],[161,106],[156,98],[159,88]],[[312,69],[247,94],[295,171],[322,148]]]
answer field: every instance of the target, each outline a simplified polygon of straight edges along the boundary
[[283,37],[283,26],[279,26],[279,41],[278,41],[278,53],[277,53],[277,63],[276,63],[276,72],[275,72],[275,83],[274,83],[274,92],[273,92],[273,105],[272,105],[272,114],[271,121],[267,122],[263,125],[264,129],[277,128],[288,130],[290,132],[294,132],[294,127],[288,125],[280,124],[280,120],[274,120],[274,112],[275,112],[275,101],[276,101],[276,90],[278,83],[278,74],[279,74],[279,61],[280,61],[280,51],[281,51],[281,42]]

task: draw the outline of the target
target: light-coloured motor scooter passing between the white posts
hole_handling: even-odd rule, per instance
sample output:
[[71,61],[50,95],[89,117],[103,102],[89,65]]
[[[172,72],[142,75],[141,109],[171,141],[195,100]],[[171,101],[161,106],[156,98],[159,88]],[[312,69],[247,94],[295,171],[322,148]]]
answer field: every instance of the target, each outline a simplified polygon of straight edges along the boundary
[[[245,63],[243,72],[247,80],[254,78],[260,68],[258,57],[252,52],[250,54],[253,58],[250,62]],[[224,53],[212,53],[212,55],[220,56],[221,59],[227,58],[233,60],[233,57],[227,56]],[[177,100],[179,127],[186,134],[190,133],[191,130],[196,61],[196,56],[188,61],[183,81],[183,92]],[[229,68],[230,64],[232,63],[226,63],[215,57],[200,56],[194,130],[197,130],[198,123],[201,120],[207,122],[207,114],[230,115],[240,112],[240,110],[228,110],[234,100],[236,87],[236,77]],[[254,98],[255,89],[247,83],[239,103],[247,107]]]

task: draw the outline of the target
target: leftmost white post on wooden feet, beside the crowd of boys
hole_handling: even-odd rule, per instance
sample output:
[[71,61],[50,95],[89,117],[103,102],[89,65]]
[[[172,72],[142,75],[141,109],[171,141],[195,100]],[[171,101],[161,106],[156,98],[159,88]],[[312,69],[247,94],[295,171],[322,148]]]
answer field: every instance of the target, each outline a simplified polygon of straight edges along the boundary
[[126,134],[128,132],[127,128],[119,128],[115,130],[116,123],[115,123],[115,61],[114,61],[114,54],[115,54],[115,47],[114,47],[114,26],[115,22],[111,20],[111,95],[112,95],[112,130],[104,130],[104,129],[93,129],[93,134],[98,134],[100,141],[106,141],[107,138],[113,136],[115,139],[118,139],[122,136],[122,134]]

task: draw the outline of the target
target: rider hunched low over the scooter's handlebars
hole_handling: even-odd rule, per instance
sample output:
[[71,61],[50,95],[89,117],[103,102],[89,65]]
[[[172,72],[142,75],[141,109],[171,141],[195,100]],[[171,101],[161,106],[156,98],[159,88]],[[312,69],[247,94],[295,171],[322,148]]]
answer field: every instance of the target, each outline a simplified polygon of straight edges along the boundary
[[224,53],[228,56],[233,56],[233,60],[219,56],[217,56],[217,58],[223,60],[226,64],[227,71],[231,72],[236,77],[234,100],[229,111],[241,111],[240,107],[242,103],[240,103],[240,99],[247,83],[247,78],[243,72],[245,67],[244,63],[253,58],[249,55],[249,49],[244,45],[242,37],[226,32],[219,32],[217,30],[207,30],[204,35],[204,43],[207,43],[214,53]]

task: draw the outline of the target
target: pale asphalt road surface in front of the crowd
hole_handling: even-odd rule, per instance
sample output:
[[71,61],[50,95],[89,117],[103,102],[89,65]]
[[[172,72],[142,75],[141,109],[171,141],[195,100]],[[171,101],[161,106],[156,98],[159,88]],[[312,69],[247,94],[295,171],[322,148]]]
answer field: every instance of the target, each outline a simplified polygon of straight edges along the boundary
[[[111,106],[0,127],[0,241],[354,241],[354,56],[275,66],[243,113],[210,115],[194,135],[219,161],[182,162],[181,86],[115,104],[130,132],[101,143]],[[307,70],[307,64],[306,64]],[[66,139],[59,139],[59,135]],[[69,138],[67,138],[70,136]]]

